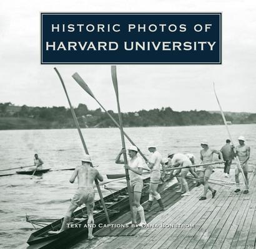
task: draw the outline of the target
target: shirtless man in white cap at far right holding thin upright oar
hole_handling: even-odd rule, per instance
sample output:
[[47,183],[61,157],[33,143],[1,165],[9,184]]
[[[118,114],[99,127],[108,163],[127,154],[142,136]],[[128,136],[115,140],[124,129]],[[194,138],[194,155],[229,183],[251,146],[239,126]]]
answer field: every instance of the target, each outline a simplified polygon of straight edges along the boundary
[[[244,171],[244,176],[247,181],[247,184],[245,184],[245,190],[244,194],[249,193],[249,179],[248,179],[248,161],[250,158],[250,147],[245,145],[245,138],[244,136],[239,137],[239,145],[235,147],[235,151],[237,156],[239,157],[239,161],[242,167],[242,170]],[[235,183],[237,184],[237,189],[235,192],[240,191],[240,183],[239,183],[239,173],[241,171],[239,169],[235,169]]]

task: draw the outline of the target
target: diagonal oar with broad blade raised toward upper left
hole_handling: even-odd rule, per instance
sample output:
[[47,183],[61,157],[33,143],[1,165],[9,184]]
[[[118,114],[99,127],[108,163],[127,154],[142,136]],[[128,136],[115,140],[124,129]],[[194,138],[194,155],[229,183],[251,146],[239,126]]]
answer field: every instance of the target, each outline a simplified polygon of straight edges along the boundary
[[[101,106],[101,108],[107,113],[107,115],[109,115],[109,118],[111,118],[111,120],[114,122],[114,124],[119,129],[121,129],[119,123],[117,123],[117,121],[112,117],[112,115],[104,108],[104,106],[101,105],[101,103],[97,100],[97,98],[92,93],[91,89],[88,87],[86,82],[84,82],[84,80],[80,77],[80,75],[78,73],[74,73],[72,75],[72,77],[74,78],[74,80],[76,80],[77,83],[79,83],[79,85],[80,85],[80,87],[82,87],[82,89],[84,89],[92,98],[94,98],[94,100],[96,100],[96,102],[99,104],[99,106]],[[124,133],[124,136],[126,136],[126,138],[129,140],[129,142],[138,148],[138,146],[132,141],[132,139],[130,139],[129,136],[125,133],[125,131],[123,131],[123,133]],[[139,148],[138,148],[138,152],[143,157],[143,159],[147,162],[148,161],[147,157],[144,156],[144,154],[140,151]]]

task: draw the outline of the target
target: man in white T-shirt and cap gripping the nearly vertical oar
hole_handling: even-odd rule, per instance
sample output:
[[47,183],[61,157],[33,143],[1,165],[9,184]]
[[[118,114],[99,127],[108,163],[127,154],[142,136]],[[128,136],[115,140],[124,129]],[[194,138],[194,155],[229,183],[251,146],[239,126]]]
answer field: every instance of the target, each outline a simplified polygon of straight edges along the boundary
[[[126,153],[126,149],[121,149],[120,153],[116,157],[116,164],[124,164],[124,160],[121,159],[121,155]],[[134,214],[135,222],[137,217],[137,212],[140,215],[140,223],[139,227],[143,227],[147,224],[145,222],[144,209],[142,205],[140,205],[140,197],[143,187],[142,181],[142,171],[143,171],[143,163],[142,159],[137,156],[138,148],[136,146],[130,146],[128,148],[128,165],[124,167],[129,170],[130,176],[130,191],[132,194],[132,212]],[[129,222],[131,224],[132,222]]]

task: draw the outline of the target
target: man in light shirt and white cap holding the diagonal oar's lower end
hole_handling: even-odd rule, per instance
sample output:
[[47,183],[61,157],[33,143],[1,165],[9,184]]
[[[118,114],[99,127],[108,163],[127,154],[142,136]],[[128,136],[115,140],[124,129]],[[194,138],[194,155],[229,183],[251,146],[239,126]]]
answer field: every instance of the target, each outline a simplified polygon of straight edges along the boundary
[[147,166],[150,169],[150,185],[149,185],[149,200],[147,202],[147,207],[145,211],[149,212],[154,198],[159,203],[160,209],[164,210],[164,204],[162,202],[160,194],[157,192],[157,187],[159,185],[160,179],[161,179],[161,173],[160,173],[160,165],[162,165],[162,178],[165,176],[165,165],[162,161],[162,156],[157,151],[156,147],[154,145],[147,146],[149,149],[149,152],[152,153],[150,156],[149,161],[147,162]]

